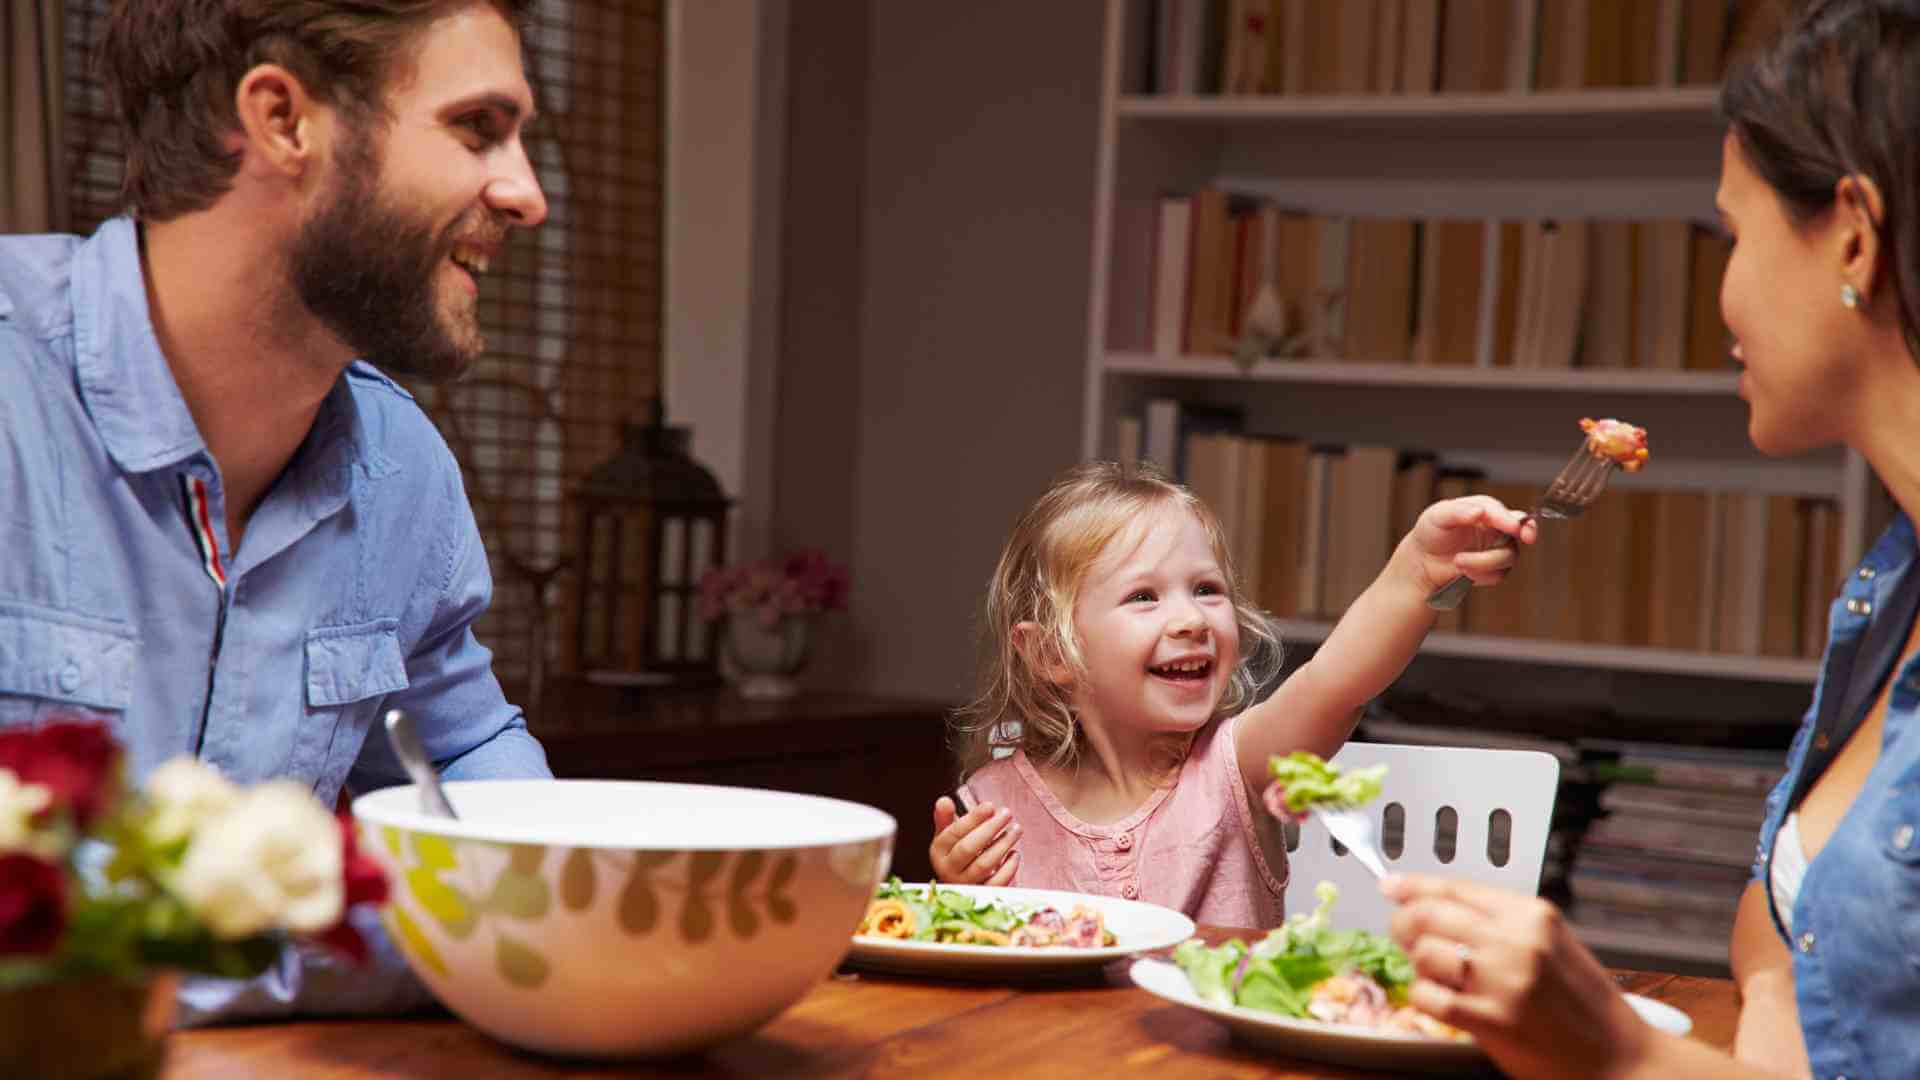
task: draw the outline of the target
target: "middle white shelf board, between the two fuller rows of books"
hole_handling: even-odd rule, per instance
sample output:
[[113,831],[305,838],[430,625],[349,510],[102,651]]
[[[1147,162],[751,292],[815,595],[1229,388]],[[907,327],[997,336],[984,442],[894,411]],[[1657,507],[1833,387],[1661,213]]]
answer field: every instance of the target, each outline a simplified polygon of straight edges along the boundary
[[1108,375],[1150,379],[1302,382],[1323,386],[1415,386],[1434,390],[1530,390],[1567,394],[1668,394],[1730,398],[1740,388],[1736,373],[1645,371],[1645,369],[1569,369],[1526,371],[1511,367],[1409,367],[1404,363],[1346,363],[1340,359],[1263,359],[1240,371],[1219,356],[1108,354]]

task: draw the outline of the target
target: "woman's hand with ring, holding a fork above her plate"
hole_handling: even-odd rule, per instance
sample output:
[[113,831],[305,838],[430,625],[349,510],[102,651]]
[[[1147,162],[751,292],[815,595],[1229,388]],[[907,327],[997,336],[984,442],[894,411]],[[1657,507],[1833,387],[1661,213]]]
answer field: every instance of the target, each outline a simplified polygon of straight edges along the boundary
[[1413,961],[1407,1003],[1461,1028],[1513,1076],[1624,1076],[1659,1034],[1551,903],[1452,878],[1394,874],[1390,930]]

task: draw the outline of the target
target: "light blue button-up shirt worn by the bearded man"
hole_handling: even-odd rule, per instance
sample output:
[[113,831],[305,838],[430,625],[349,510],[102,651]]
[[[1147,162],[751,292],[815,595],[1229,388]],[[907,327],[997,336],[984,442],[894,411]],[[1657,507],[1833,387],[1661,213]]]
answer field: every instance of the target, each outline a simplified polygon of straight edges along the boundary
[[[134,782],[198,753],[332,805],[403,780],[369,738],[394,705],[447,776],[549,774],[472,634],[493,586],[434,425],[355,363],[234,550],[129,219],[0,238],[0,726],[102,717]],[[300,947],[252,982],[192,980],[182,1019],[419,1003],[374,944],[371,970]]]

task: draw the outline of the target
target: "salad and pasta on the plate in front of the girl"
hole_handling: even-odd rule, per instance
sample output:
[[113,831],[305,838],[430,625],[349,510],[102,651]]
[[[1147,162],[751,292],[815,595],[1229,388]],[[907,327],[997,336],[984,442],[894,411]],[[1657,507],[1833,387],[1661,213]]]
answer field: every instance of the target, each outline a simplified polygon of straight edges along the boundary
[[996,899],[975,899],[937,884],[908,886],[887,878],[854,930],[868,938],[933,942],[941,945],[1010,945],[1027,949],[1100,949],[1114,944],[1106,919],[1085,905],[1023,909]]

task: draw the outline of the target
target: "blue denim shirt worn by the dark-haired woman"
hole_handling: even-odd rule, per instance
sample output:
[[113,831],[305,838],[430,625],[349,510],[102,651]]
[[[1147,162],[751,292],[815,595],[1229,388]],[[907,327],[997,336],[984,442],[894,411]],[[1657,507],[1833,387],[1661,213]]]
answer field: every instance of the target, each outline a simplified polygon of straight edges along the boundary
[[[1841,705],[1849,686],[1878,686],[1885,673],[1874,669],[1899,657],[1905,632],[1878,663],[1862,655],[1862,642],[1884,605],[1887,617],[1899,615],[1891,598],[1914,555],[1914,527],[1899,515],[1832,605],[1812,705],[1788,751],[1788,773],[1766,799],[1753,863],[1763,888],[1780,822],[1866,715]],[[1880,761],[1807,867],[1793,903],[1793,990],[1818,1078],[1920,1076],[1920,659],[1891,678]],[[1778,917],[1774,926],[1786,938]]]

